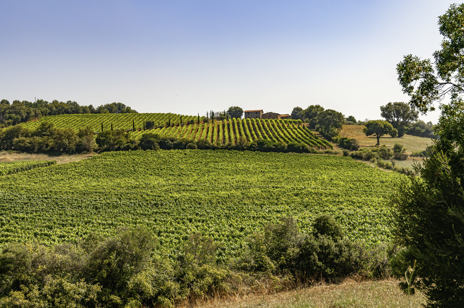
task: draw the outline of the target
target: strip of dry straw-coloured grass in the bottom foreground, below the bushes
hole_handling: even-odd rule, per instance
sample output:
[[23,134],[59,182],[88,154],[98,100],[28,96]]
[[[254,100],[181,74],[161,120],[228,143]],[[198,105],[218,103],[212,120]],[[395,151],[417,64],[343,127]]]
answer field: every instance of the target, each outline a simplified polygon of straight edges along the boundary
[[[417,292],[410,297],[412,308],[422,307],[424,297]],[[314,287],[281,292],[273,295],[250,295],[232,298],[228,301],[214,301],[193,306],[196,308],[374,308],[374,307],[408,307],[408,298],[398,288],[398,282],[393,279],[375,281],[355,281],[346,279],[340,284],[321,284]]]

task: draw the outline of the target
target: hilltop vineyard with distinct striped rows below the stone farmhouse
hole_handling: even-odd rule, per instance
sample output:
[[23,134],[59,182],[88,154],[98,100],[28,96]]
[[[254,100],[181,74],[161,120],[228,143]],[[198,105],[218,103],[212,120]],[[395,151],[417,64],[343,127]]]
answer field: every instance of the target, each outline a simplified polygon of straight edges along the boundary
[[[145,113],[145,114],[91,114],[91,115],[54,115],[43,117],[39,121],[31,121],[23,124],[26,128],[37,128],[39,122],[49,121],[59,128],[70,127],[73,129],[91,128],[98,132],[103,129],[120,129],[132,132],[132,137],[138,139],[143,134],[143,123],[154,121],[155,126],[162,126],[151,131],[165,137],[186,138],[188,140],[207,140],[216,145],[227,143],[237,144],[241,136],[247,141],[268,139],[274,142],[304,143],[314,148],[333,148],[326,140],[318,138],[301,121],[296,120],[264,120],[264,119],[235,119],[223,121],[211,121],[203,123],[200,117],[175,114]],[[184,124],[193,120],[196,124]],[[170,122],[171,126],[166,123]]]

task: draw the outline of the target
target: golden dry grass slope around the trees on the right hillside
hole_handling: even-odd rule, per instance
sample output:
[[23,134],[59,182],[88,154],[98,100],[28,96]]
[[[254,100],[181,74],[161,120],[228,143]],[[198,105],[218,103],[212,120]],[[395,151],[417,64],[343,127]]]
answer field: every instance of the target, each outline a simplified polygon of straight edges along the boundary
[[[340,135],[343,137],[356,138],[362,148],[374,147],[377,144],[377,138],[375,138],[375,136],[367,137],[362,132],[362,128],[364,128],[364,125],[343,125]],[[389,136],[380,138],[380,144],[385,144],[387,148],[393,148],[395,143],[400,143],[403,147],[407,148],[406,153],[412,153],[412,151],[417,152],[425,150],[427,145],[432,144],[432,139],[412,135],[404,135],[400,138],[392,138]]]

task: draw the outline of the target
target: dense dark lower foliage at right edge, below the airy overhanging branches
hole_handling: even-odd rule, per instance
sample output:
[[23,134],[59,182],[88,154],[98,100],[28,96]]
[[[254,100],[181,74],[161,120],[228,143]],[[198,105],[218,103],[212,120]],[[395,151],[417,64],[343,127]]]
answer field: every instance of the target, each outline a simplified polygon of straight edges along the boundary
[[405,181],[394,200],[395,235],[406,250],[393,267],[401,278],[416,260],[412,286],[425,294],[426,307],[458,307],[464,301],[464,102],[440,109],[440,138],[415,166],[421,177]]

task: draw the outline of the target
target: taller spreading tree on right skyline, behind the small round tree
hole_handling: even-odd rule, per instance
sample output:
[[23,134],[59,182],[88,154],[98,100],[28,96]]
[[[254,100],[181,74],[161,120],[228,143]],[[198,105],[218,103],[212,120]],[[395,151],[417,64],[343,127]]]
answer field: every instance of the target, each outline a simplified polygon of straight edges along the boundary
[[403,102],[387,103],[385,106],[380,106],[380,111],[380,116],[398,130],[398,137],[404,136],[407,124],[419,118],[419,111],[411,109]]

